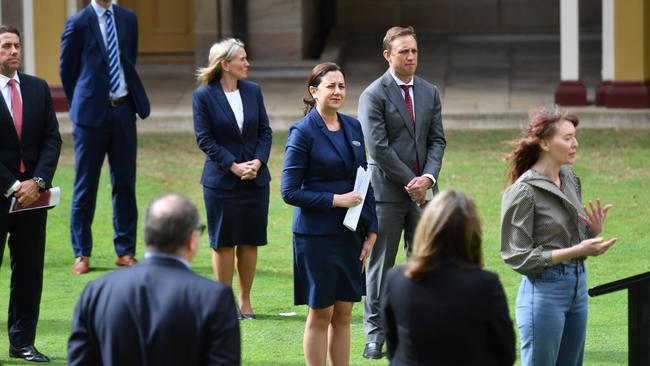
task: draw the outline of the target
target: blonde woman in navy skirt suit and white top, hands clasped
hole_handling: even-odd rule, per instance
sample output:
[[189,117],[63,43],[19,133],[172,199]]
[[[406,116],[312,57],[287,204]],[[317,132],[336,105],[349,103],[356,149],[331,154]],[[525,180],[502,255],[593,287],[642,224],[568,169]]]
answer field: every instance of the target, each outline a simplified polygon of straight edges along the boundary
[[244,80],[248,66],[241,41],[216,43],[192,96],[196,141],[206,155],[201,183],[212,269],[217,281],[232,286],[237,257],[242,319],[255,318],[250,292],[257,247],[266,244],[271,180],[269,118],[259,85]]

